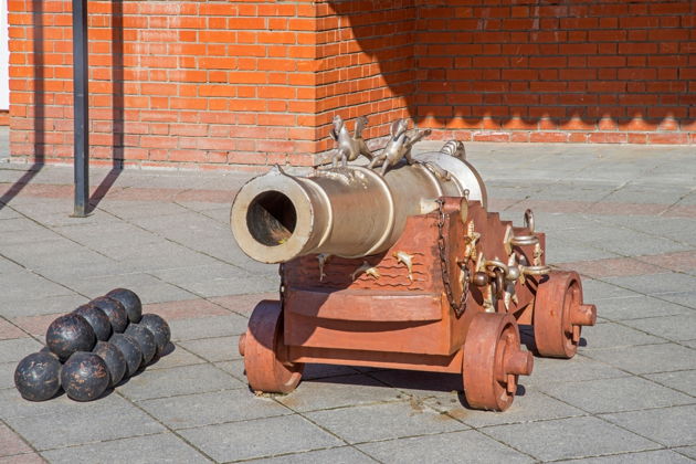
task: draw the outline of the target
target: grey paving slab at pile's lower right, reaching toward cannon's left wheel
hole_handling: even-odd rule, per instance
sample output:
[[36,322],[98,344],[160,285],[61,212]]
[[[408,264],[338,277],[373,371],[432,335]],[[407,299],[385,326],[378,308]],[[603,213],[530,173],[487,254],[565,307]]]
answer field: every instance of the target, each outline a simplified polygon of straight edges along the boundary
[[140,401],[242,387],[239,380],[211,365],[194,365],[171,369],[146,369],[119,386],[118,391]]

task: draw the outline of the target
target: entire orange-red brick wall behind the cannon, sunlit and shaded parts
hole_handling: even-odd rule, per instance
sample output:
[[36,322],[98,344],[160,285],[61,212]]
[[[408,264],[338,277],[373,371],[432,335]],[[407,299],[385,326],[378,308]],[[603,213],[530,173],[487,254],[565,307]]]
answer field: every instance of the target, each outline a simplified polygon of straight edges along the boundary
[[[91,1],[91,155],[310,164],[368,137],[696,143],[696,2]],[[9,0],[11,151],[72,156],[70,2]]]

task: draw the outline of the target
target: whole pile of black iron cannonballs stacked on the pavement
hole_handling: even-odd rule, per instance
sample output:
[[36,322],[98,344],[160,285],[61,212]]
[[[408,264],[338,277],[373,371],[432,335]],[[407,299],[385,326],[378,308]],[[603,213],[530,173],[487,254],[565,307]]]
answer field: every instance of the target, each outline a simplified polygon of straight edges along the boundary
[[116,288],[51,323],[46,347],[20,361],[14,384],[30,401],[49,400],[61,387],[91,401],[159,359],[170,337],[165,319],[143,314],[138,295]]

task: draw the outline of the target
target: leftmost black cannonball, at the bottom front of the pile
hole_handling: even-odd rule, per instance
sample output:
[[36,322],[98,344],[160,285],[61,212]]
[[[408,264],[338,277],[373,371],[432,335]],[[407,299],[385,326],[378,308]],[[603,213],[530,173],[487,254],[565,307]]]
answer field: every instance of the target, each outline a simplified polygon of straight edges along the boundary
[[51,352],[34,352],[14,369],[14,386],[29,401],[50,400],[61,389],[61,361]]

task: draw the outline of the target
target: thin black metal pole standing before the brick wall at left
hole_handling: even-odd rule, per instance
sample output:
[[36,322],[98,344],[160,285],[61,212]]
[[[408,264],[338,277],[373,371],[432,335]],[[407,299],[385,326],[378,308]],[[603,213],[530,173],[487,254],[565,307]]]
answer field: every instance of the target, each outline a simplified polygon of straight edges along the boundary
[[75,113],[75,212],[87,215],[89,202],[89,113],[87,110],[87,0],[73,0],[73,102]]

